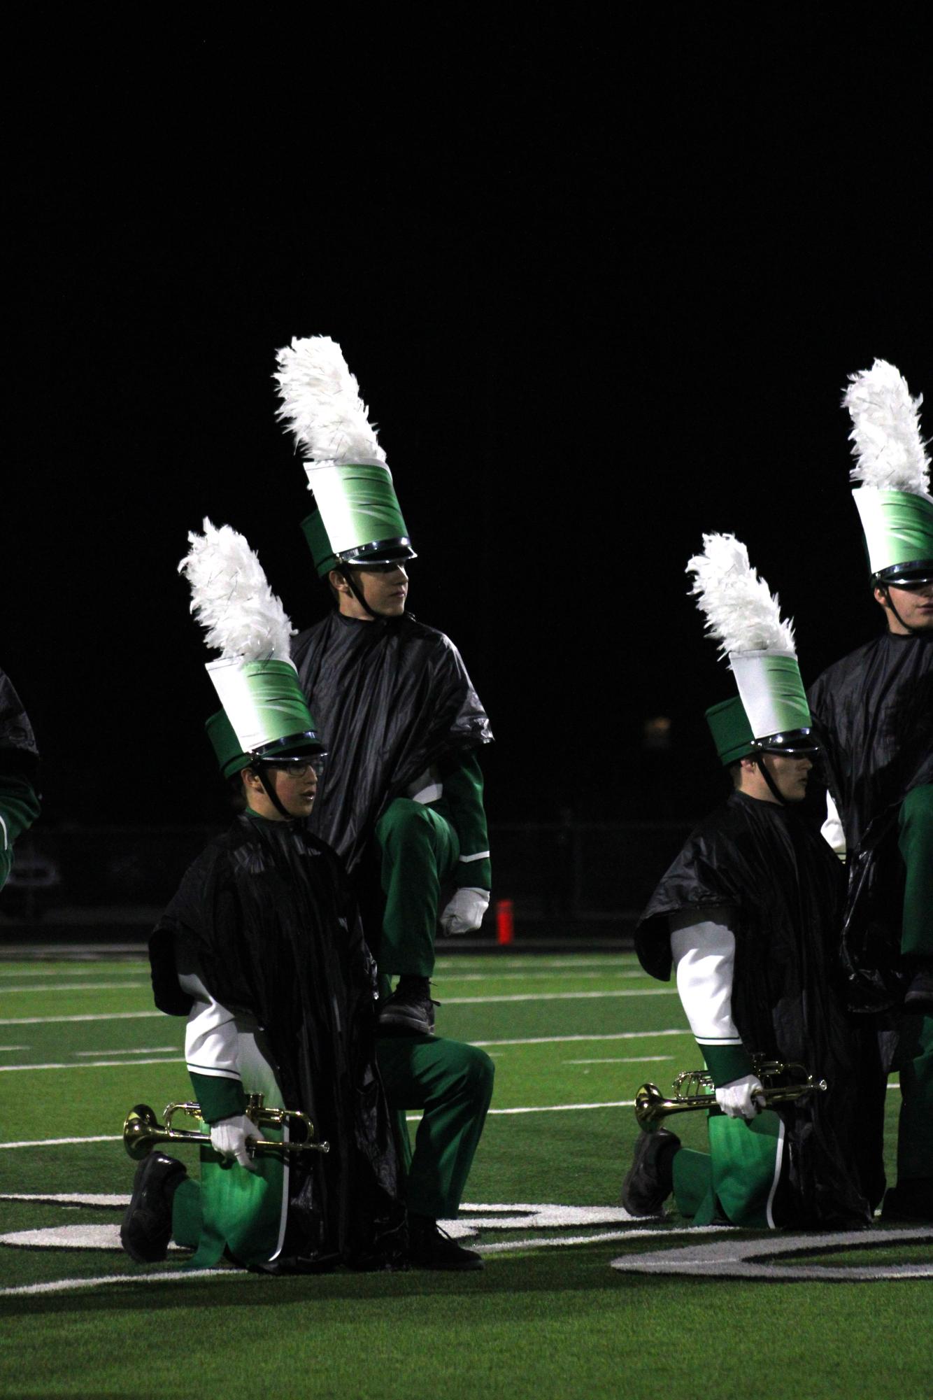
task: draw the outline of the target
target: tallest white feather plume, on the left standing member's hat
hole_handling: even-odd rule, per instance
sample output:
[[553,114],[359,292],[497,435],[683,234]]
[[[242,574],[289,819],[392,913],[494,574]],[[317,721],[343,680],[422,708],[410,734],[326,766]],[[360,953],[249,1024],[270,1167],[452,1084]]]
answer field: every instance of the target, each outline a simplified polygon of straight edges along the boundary
[[369,423],[369,409],[343,350],[330,336],[295,337],[276,354],[281,407],[276,417],[295,435],[315,466],[339,462],[385,462]]

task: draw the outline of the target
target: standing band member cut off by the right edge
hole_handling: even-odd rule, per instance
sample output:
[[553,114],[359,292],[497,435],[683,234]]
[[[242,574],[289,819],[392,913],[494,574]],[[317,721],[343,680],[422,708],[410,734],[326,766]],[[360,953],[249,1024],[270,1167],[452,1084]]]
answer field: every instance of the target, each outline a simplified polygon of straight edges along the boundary
[[842,956],[899,1070],[897,1187],[885,1219],[933,1219],[933,498],[918,409],[876,360],[845,395],[853,491],[885,631],[810,690],[827,756],[824,834],[845,855]]

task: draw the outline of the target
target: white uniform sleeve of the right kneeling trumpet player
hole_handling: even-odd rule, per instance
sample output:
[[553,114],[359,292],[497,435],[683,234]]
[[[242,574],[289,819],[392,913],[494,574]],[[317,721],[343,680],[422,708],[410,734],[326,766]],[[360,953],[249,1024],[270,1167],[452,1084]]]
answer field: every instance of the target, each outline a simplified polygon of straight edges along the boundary
[[[698,917],[705,916],[705,917]],[[697,1042],[740,1046],[732,1019],[732,979],[736,935],[730,911],[720,906],[683,910],[670,918],[670,951],[677,967],[677,991]]]

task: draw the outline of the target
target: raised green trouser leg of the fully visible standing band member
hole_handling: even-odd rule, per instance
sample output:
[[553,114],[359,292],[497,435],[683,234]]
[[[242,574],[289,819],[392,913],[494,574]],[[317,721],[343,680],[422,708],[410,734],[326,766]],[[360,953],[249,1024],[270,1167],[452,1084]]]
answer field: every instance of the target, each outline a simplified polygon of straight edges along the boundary
[[460,858],[457,833],[439,812],[397,797],[376,822],[375,834],[386,897],[379,972],[429,977],[441,886]]

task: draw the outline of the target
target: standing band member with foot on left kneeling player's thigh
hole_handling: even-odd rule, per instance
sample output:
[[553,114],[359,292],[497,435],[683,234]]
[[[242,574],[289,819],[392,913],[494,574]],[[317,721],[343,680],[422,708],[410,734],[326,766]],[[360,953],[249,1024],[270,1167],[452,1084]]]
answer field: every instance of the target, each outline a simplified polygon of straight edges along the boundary
[[358,889],[380,886],[379,969],[399,977],[380,1032],[431,1035],[436,930],[478,928],[490,902],[477,753],[492,732],[453,643],[406,613],[415,556],[340,346],[292,340],[276,378],[315,493],[302,529],[336,603],[292,648],[332,755],[311,829]]

